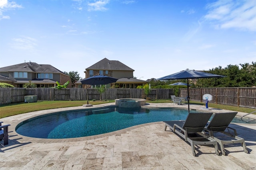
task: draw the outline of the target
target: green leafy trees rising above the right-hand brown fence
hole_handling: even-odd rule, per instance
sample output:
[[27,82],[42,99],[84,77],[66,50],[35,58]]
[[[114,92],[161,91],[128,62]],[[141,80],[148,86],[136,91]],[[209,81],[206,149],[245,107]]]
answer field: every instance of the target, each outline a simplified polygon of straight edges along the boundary
[[[208,71],[212,74],[226,76],[224,78],[200,78],[196,83],[189,82],[191,88],[214,88],[214,87],[256,87],[256,62],[252,64],[244,63],[239,65],[229,64],[225,68],[218,66]],[[168,84],[175,82],[184,82],[186,80],[168,80],[168,81],[151,81],[152,88],[177,88],[176,86],[170,87]],[[186,88],[186,87],[180,87]]]

